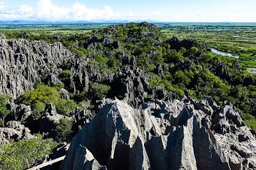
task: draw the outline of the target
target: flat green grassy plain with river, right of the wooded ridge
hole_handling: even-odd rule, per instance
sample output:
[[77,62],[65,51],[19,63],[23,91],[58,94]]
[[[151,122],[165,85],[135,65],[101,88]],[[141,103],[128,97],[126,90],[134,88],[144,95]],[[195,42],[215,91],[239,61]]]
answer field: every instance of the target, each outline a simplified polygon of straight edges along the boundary
[[195,38],[208,48],[239,55],[243,67],[256,67],[255,23],[158,24],[168,37]]

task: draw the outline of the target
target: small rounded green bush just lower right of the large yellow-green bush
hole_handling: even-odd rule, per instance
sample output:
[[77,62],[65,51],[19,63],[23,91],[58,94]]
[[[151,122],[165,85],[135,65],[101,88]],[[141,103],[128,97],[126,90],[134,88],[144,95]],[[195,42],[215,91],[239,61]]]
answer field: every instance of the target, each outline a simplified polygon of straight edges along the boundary
[[59,114],[67,116],[77,107],[77,104],[73,100],[60,99],[60,101],[56,101],[54,104]]

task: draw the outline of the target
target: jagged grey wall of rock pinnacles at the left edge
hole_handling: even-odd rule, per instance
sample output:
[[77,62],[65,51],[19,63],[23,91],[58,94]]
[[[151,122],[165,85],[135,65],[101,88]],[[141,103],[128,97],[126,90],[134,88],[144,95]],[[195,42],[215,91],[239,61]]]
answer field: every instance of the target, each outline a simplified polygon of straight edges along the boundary
[[0,92],[16,99],[26,90],[33,89],[36,81],[41,81],[40,74],[61,71],[52,67],[52,64],[60,66],[71,57],[72,53],[61,43],[49,45],[40,41],[6,39],[1,35]]

